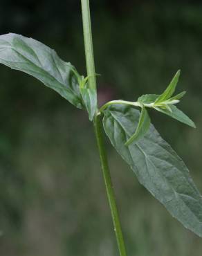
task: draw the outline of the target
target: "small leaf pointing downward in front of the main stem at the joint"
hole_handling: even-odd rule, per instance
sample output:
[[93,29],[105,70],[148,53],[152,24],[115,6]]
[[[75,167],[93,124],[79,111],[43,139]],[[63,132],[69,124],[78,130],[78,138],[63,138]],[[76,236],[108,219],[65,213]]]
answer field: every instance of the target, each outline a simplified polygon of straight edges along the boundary
[[93,120],[97,109],[97,93],[93,88],[81,88],[80,92],[86,106],[86,110],[89,113],[89,120]]

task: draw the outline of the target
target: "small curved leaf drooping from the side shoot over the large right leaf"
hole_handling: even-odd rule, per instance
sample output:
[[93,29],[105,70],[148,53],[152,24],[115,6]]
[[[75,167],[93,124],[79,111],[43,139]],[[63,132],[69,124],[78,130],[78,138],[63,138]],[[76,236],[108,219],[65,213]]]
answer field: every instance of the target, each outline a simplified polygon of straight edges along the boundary
[[131,138],[129,138],[129,140],[127,140],[127,143],[125,143],[125,145],[128,146],[134,142],[137,143],[138,140],[143,138],[145,136],[145,134],[147,134],[147,131],[150,126],[150,122],[151,121],[150,121],[147,109],[145,109],[145,107],[143,107],[141,114],[140,114],[140,120],[138,122],[136,132],[134,133],[134,135],[131,136]]

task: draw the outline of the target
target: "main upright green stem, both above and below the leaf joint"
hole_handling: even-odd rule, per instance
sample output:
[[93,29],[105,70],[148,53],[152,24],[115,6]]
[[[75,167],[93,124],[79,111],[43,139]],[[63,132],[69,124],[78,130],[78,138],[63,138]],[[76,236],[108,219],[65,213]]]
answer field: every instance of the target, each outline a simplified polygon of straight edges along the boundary
[[[81,0],[81,2],[82,2],[82,19],[83,19],[83,28],[84,28],[84,46],[85,46],[85,53],[86,53],[86,68],[87,68],[87,75],[89,77],[89,87],[96,88],[89,0]],[[102,123],[101,123],[99,114],[95,116],[93,122],[95,127],[95,136],[98,143],[98,149],[100,154],[102,172],[104,176],[104,183],[107,190],[107,197],[108,197],[109,206],[111,209],[111,216],[113,219],[114,230],[116,232],[116,239],[118,242],[120,256],[127,256],[124,239],[122,237],[120,220],[118,217],[118,209],[116,206],[115,194],[113,192],[113,185],[111,183],[111,176],[110,176],[109,165],[107,161],[107,153],[106,153],[106,149],[104,148],[104,142],[102,138]]]

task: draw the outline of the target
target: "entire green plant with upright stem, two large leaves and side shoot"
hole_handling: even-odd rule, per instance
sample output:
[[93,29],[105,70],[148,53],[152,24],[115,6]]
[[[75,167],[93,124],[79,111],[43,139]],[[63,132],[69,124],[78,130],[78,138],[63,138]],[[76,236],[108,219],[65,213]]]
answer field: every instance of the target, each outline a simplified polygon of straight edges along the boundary
[[[0,36],[0,62],[33,75],[57,91],[75,107],[86,110],[93,122],[104,182],[111,208],[114,230],[121,256],[125,242],[118,216],[104,148],[102,124],[111,144],[129,164],[138,181],[151,192],[183,226],[202,237],[202,198],[187,167],[151,124],[147,109],[195,127],[194,122],[176,107],[185,91],[174,95],[180,71],[160,95],[145,94],[137,101],[112,100],[98,109],[96,73],[93,58],[89,0],[82,0],[86,77],[69,62],[35,39],[16,34]],[[140,108],[140,111],[137,109]]]

